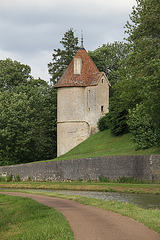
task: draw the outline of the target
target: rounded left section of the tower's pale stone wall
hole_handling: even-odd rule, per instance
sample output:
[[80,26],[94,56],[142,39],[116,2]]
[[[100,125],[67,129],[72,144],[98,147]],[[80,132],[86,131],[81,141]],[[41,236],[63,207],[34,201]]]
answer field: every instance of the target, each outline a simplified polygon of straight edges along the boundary
[[85,88],[58,89],[57,156],[63,155],[88,137],[85,121]]

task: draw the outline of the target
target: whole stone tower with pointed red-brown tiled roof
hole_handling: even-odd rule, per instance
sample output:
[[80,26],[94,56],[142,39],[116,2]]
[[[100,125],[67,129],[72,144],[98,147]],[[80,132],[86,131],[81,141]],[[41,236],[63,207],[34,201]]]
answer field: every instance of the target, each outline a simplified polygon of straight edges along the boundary
[[97,132],[97,121],[109,107],[110,83],[80,47],[55,88],[57,96],[57,156]]

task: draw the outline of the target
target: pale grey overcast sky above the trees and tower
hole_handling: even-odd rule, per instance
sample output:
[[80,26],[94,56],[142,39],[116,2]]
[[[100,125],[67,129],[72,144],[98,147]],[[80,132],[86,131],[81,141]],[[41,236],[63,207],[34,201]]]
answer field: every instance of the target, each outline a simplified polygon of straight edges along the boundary
[[0,59],[27,64],[34,78],[49,80],[47,64],[73,28],[86,50],[123,41],[136,0],[0,0]]

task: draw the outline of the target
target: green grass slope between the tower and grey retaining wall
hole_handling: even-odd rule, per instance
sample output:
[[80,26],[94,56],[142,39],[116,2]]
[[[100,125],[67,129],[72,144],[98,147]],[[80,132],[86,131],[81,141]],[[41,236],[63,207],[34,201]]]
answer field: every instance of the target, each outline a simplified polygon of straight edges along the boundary
[[136,151],[130,133],[115,137],[109,130],[106,130],[94,134],[68,153],[54,160],[138,154],[160,154],[160,148],[153,147]]

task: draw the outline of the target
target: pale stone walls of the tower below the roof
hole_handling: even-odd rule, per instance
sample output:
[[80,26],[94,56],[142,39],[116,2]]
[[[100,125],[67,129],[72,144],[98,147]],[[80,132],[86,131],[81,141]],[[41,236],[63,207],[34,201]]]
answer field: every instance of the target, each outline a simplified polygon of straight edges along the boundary
[[97,121],[108,107],[109,86],[104,76],[96,86],[58,88],[57,156],[97,132]]

